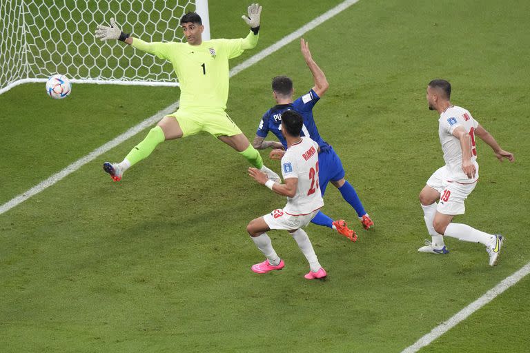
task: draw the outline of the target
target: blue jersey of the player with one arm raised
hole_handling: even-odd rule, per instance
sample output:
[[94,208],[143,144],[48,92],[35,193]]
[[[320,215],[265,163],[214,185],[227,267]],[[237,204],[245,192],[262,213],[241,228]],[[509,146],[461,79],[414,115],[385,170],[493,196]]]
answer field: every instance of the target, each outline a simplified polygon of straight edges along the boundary
[[328,143],[320,137],[317,125],[315,124],[315,119],[313,119],[313,107],[319,99],[320,97],[318,97],[315,91],[310,90],[307,94],[304,94],[302,97],[293,101],[293,103],[275,105],[263,114],[262,121],[259,122],[257,128],[257,136],[266,137],[270,131],[276,135],[278,140],[284,145],[284,148],[287,149],[287,141],[285,141],[281,131],[282,113],[286,110],[295,110],[295,112],[299,113],[304,118],[304,125],[302,126],[302,132],[300,135],[310,137],[313,141],[318,143],[320,148],[327,147]]

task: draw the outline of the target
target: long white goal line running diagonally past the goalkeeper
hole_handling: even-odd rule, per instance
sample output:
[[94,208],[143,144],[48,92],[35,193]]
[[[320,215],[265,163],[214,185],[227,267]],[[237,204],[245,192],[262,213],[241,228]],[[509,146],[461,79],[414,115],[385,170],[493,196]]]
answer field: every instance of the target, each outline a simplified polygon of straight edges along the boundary
[[[336,14],[346,10],[346,8],[349,8],[349,6],[352,6],[354,3],[356,3],[359,0],[346,0],[340,3],[339,5],[335,6],[335,8],[332,8],[331,10],[328,10],[327,12],[324,12],[324,14],[320,15],[319,17],[313,19],[313,21],[310,21],[306,23],[306,25],[302,26],[302,28],[299,28],[298,30],[295,30],[295,32],[288,34],[286,37],[280,39],[276,43],[274,43],[272,46],[269,46],[268,48],[262,50],[261,52],[258,52],[253,57],[250,57],[249,59],[246,59],[246,61],[243,61],[239,65],[235,66],[230,70],[230,77],[233,77],[238,72],[241,72],[242,70],[245,70],[246,68],[251,67],[258,61],[268,57],[269,55],[273,54],[273,52],[279,50],[280,48],[286,46],[288,43],[291,43],[297,37],[302,36],[302,34],[313,30],[313,28],[319,26],[320,24],[324,23],[324,21],[327,21],[328,19],[331,19],[331,17],[335,16]],[[51,177],[46,179],[45,181],[41,181],[39,184],[35,185],[34,187],[30,188],[26,192],[23,192],[22,194],[19,194],[18,196],[15,196],[10,201],[4,203],[0,206],[0,214],[3,214],[5,212],[8,212],[15,206],[19,205],[23,201],[26,201],[31,196],[34,196],[35,194],[38,194],[42,190],[45,190],[46,188],[54,185],[57,183],[57,181],[60,181],[64,177],[68,176],[72,172],[75,172],[79,168],[81,168],[86,163],[89,163],[90,161],[93,161],[97,157],[101,156],[101,154],[104,154],[108,152],[111,148],[115,148],[120,143],[130,139],[131,137],[135,136],[138,132],[141,132],[145,128],[148,128],[150,125],[153,125],[157,121],[159,121],[162,117],[164,117],[167,114],[170,114],[172,112],[175,112],[177,110],[177,107],[179,105],[179,102],[175,102],[172,105],[168,106],[164,110],[160,110],[152,117],[149,117],[148,119],[142,121],[138,125],[134,126],[133,128],[130,128],[124,134],[119,135],[112,141],[109,141],[108,143],[105,143],[104,145],[101,145],[99,148],[96,148],[89,154],[87,154],[85,157],[82,157],[81,159],[78,159],[74,163],[68,165],[68,167],[64,168],[60,172],[53,174]]]

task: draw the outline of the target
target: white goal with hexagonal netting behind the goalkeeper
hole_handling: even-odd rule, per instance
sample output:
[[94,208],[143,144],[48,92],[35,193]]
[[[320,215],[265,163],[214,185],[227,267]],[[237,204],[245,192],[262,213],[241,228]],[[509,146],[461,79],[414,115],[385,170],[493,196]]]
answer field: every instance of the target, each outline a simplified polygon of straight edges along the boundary
[[52,74],[73,83],[176,86],[170,63],[94,32],[114,17],[144,41],[182,41],[179,20],[189,11],[210,39],[208,0],[0,0],[0,94]]

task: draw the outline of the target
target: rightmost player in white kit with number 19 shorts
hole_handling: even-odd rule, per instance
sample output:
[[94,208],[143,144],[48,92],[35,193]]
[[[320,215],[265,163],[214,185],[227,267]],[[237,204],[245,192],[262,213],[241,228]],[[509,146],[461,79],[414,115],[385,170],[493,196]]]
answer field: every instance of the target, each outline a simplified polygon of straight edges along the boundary
[[[464,200],[471,194],[478,181],[477,150],[475,135],[487,143],[502,161],[513,162],[513,154],[500,148],[493,136],[471,117],[464,108],[451,105],[451,84],[436,79],[427,86],[429,110],[440,113],[440,143],[444,152],[445,165],[436,170],[420,192],[425,224],[432,242],[418,249],[420,252],[447,254],[443,236],[482,243],[489,254],[489,265],[497,264],[504,237],[488,234],[469,225],[451,223],[457,214],[465,211]],[[438,204],[436,201],[440,201]]]

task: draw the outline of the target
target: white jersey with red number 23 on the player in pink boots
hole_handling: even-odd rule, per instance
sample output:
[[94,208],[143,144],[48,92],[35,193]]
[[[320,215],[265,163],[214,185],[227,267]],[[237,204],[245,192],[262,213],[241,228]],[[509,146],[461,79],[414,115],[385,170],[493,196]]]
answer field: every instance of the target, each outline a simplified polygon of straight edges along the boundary
[[294,197],[287,198],[284,212],[293,216],[309,214],[324,205],[318,185],[318,143],[302,137],[299,143],[289,147],[282,157],[284,180],[298,178]]

